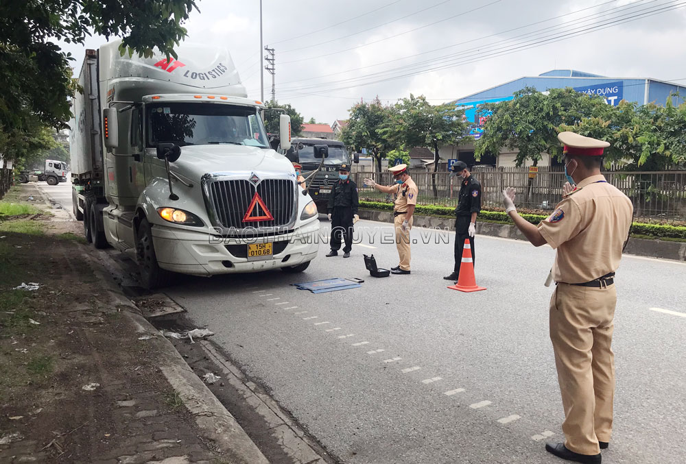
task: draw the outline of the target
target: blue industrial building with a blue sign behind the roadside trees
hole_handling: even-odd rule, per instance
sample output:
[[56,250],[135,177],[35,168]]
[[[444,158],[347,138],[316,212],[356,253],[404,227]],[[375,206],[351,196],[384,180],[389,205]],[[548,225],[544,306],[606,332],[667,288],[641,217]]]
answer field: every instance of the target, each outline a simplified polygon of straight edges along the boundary
[[[616,106],[619,101],[627,100],[639,104],[657,103],[664,105],[667,98],[672,95],[675,105],[684,103],[686,97],[686,86],[665,82],[650,78],[622,78],[606,77],[597,74],[574,71],[572,69],[555,69],[537,76],[520,77],[519,79],[499,84],[495,87],[482,90],[454,100],[456,106],[465,110],[465,117],[471,123],[470,135],[475,139],[480,138],[483,132],[484,121],[479,121],[476,117],[477,107],[482,103],[495,103],[512,99],[512,95],[525,87],[533,87],[540,92],[545,92],[551,88],[571,87],[578,92],[589,93],[591,95],[602,95],[606,103]],[[678,93],[678,95],[676,95]],[[465,145],[460,147],[442,147],[440,150],[441,158],[462,159],[467,164],[474,163],[473,146]],[[514,154],[501,152],[492,160],[482,160],[485,164],[497,164],[498,166],[510,166],[514,160]],[[547,165],[552,160],[544,156],[542,163]]]

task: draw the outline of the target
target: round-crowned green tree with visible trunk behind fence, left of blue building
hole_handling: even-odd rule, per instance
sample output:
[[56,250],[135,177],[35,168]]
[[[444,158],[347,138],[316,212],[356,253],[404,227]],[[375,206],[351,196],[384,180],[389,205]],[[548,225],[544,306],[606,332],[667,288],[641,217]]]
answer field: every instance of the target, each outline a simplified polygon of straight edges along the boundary
[[[427,147],[434,150],[434,173],[438,171],[438,148],[441,145],[458,145],[471,140],[465,136],[467,123],[464,121],[464,111],[456,109],[454,105],[431,105],[421,95],[403,98],[396,103],[392,117],[388,119],[381,130],[383,136],[388,137],[395,145],[405,147]],[[432,176],[434,197],[438,196],[436,175]]]

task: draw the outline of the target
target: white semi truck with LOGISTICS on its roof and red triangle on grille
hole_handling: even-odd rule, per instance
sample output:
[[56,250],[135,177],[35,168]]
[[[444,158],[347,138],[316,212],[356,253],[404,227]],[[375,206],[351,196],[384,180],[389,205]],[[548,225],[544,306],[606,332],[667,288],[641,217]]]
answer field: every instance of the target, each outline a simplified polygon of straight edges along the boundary
[[[178,59],[87,50],[72,100],[74,213],[95,247],[135,250],[141,282],[281,268],[317,254],[317,208],[273,149],[226,49]],[[290,120],[280,119],[281,149]],[[322,150],[320,157],[326,156]]]

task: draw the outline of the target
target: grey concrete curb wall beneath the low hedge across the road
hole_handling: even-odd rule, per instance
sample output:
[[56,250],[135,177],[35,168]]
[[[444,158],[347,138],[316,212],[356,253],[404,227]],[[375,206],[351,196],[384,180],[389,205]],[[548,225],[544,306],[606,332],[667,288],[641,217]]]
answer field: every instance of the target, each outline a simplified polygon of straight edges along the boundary
[[[393,222],[393,213],[390,211],[360,209],[359,217],[361,219],[371,219],[372,221]],[[455,230],[455,219],[421,215],[414,215],[413,217],[414,225],[418,227]],[[503,239],[526,240],[525,236],[519,232],[519,229],[510,224],[480,222],[477,220],[476,233],[497,236]],[[624,253],[686,261],[686,242],[630,239]]]

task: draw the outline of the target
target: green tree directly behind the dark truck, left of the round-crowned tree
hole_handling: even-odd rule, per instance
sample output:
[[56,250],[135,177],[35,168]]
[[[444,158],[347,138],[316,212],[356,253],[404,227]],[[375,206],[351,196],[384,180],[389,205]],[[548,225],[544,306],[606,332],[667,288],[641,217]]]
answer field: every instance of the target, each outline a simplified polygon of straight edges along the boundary
[[383,106],[378,98],[370,103],[357,103],[348,110],[350,118],[341,132],[340,139],[346,146],[358,152],[367,149],[376,163],[377,172],[381,172],[381,160],[386,158],[388,151],[398,147],[380,132],[393,110]]

